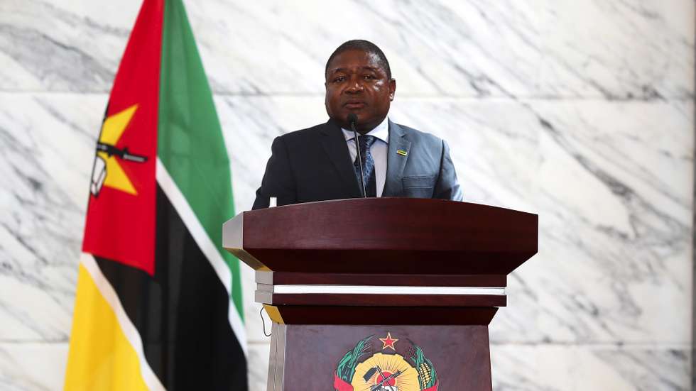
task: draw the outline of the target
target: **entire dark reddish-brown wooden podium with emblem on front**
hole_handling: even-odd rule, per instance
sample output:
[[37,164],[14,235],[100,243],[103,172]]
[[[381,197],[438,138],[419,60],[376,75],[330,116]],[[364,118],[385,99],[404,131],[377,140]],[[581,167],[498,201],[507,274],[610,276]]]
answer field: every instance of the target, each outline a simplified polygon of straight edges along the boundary
[[223,246],[273,320],[268,391],[491,390],[488,324],[538,216],[439,199],[246,211]]

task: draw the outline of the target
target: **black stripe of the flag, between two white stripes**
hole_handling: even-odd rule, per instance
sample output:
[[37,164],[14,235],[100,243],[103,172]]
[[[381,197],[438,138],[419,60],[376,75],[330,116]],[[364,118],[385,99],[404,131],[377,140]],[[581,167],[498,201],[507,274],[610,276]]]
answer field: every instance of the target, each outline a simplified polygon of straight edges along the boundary
[[155,276],[95,258],[167,390],[247,390],[227,291],[159,186]]

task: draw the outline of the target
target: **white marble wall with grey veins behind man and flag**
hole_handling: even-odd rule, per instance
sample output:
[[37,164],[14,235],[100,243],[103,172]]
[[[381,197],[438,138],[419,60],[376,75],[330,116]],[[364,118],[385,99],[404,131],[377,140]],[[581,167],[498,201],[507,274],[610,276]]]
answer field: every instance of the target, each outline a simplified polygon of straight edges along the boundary
[[[450,143],[465,199],[539,215],[491,324],[494,389],[690,389],[693,0],[185,4],[238,211],[272,139],[325,121],[328,55],[373,40],[391,118]],[[0,390],[62,385],[94,141],[139,6],[0,0]]]

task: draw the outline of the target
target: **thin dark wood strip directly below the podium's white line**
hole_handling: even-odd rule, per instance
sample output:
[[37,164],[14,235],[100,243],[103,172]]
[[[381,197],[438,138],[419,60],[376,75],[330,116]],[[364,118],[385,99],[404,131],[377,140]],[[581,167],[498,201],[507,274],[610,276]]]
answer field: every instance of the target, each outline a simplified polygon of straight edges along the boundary
[[493,294],[287,294],[257,290],[256,302],[273,305],[375,307],[505,307],[506,296]]

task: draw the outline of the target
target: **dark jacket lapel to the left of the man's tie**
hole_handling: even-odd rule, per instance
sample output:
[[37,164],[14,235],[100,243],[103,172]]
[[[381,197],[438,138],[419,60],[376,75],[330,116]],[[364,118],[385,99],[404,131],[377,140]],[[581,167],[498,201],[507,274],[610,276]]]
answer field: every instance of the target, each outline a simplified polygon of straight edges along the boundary
[[322,126],[320,132],[322,133],[321,143],[324,151],[336,168],[347,193],[351,194],[351,197],[361,197],[360,185],[355,177],[353,165],[350,163],[348,145],[341,128],[333,121],[328,121]]

